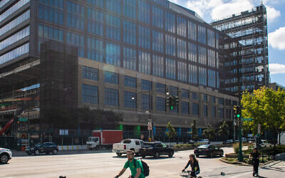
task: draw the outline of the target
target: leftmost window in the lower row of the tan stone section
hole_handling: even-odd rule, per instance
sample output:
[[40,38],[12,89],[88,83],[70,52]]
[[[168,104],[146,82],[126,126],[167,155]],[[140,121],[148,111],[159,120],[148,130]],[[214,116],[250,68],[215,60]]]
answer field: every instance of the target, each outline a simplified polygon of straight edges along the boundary
[[82,85],[81,91],[82,103],[98,104],[98,87],[92,85]]

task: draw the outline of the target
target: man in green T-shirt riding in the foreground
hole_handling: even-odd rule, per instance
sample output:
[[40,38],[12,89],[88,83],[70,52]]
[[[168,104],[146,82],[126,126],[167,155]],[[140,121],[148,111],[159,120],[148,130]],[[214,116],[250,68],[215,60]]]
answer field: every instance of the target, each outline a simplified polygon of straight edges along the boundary
[[128,167],[130,167],[130,172],[132,172],[132,175],[130,175],[129,178],[145,178],[145,176],[142,174],[143,172],[142,162],[134,158],[135,152],[133,150],[128,151],[127,157],[128,161],[125,162],[123,169],[120,171],[118,175],[115,176],[115,178],[118,178],[122,174],[124,174],[125,170],[128,169]]

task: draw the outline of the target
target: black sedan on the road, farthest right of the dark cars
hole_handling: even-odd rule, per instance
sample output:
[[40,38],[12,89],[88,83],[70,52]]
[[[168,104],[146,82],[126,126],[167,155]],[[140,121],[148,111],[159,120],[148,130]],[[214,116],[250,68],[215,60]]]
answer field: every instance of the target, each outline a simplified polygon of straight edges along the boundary
[[222,157],[224,155],[224,150],[216,147],[215,145],[200,145],[194,149],[194,154],[199,157],[200,155],[206,155],[208,157],[214,157],[219,155]]

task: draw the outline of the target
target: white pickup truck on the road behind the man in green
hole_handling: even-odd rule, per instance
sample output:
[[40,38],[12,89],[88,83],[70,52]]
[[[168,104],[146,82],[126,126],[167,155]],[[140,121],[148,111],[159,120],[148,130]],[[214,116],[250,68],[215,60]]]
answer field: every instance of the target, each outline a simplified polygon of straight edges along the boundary
[[135,153],[138,153],[143,144],[144,142],[142,140],[125,139],[120,141],[120,143],[114,143],[112,152],[115,152],[119,157],[122,154],[126,154],[128,150],[133,150]]

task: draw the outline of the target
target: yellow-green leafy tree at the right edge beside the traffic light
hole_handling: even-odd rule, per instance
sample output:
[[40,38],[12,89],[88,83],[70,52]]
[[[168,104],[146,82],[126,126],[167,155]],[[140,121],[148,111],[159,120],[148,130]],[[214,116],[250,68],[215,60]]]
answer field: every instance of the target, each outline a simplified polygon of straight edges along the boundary
[[242,95],[242,117],[251,117],[252,121],[244,122],[245,127],[257,134],[257,125],[261,131],[274,132],[274,151],[277,134],[285,129],[285,91],[260,88],[253,93]]

